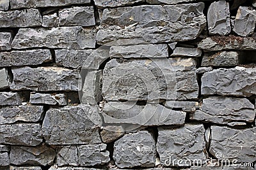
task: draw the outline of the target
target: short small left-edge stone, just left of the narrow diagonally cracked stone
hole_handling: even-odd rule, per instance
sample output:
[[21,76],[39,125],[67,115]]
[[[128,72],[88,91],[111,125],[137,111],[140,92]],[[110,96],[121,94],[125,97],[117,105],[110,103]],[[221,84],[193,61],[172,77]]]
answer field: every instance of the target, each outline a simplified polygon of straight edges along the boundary
[[22,99],[18,93],[0,92],[0,106],[4,105],[21,105]]

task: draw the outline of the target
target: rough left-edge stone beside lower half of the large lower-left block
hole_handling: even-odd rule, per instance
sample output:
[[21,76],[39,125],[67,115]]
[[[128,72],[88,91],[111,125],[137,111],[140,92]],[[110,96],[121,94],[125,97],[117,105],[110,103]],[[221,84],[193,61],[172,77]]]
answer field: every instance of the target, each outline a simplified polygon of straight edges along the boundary
[[42,143],[40,124],[0,125],[0,143],[36,146]]

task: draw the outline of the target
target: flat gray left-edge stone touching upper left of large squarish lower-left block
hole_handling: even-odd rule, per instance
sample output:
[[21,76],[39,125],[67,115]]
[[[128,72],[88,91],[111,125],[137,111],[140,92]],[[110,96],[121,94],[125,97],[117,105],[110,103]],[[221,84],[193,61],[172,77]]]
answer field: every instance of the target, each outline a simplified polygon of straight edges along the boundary
[[44,106],[8,106],[0,108],[0,124],[13,124],[17,121],[38,122]]

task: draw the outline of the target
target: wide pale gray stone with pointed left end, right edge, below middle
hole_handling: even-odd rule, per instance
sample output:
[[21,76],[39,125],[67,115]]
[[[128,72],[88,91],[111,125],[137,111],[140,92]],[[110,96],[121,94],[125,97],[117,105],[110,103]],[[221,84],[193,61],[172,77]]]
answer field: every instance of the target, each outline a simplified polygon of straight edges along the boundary
[[245,98],[208,97],[203,99],[200,110],[191,113],[190,118],[215,124],[253,122],[255,111],[254,105]]

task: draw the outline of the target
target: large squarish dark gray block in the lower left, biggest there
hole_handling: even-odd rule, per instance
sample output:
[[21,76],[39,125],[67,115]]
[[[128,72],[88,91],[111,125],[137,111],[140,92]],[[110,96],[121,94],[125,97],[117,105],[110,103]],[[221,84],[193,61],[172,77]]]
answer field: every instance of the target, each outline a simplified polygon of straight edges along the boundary
[[82,145],[101,142],[99,128],[87,117],[90,106],[51,108],[46,112],[42,133],[50,145]]

